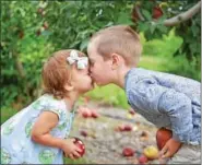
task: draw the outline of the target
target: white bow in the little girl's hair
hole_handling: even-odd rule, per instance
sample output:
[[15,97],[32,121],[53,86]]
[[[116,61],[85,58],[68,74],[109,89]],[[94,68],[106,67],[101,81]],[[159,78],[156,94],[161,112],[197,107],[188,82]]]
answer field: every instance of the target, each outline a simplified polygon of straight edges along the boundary
[[70,64],[78,62],[78,69],[85,69],[88,64],[87,57],[79,57],[76,50],[71,50],[70,57],[68,57],[67,60]]

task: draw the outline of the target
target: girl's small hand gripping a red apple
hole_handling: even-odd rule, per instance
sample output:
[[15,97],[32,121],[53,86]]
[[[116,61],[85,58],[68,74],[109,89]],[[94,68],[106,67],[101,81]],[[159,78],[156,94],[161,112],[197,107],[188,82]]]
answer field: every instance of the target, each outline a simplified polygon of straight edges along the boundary
[[74,141],[75,139],[67,139],[64,140],[63,145],[62,145],[64,156],[70,157],[71,160],[81,157],[79,152],[82,152],[81,149],[74,144]]

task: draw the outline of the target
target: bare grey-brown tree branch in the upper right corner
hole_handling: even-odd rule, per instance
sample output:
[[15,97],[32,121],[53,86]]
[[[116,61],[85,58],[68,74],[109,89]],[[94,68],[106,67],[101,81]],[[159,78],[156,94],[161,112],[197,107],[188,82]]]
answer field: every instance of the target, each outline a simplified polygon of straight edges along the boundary
[[181,22],[185,22],[185,21],[191,19],[200,10],[201,10],[201,1],[199,1],[195,5],[190,8],[188,11],[180,13],[179,15],[174,16],[171,19],[165,20],[164,25],[165,26],[175,26]]

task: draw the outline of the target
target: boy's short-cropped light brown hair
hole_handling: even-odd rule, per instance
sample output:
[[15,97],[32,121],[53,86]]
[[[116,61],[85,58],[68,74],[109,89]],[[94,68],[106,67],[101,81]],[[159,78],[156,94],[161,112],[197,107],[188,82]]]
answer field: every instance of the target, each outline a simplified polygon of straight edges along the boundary
[[127,25],[110,26],[95,33],[91,42],[96,43],[96,49],[104,59],[111,54],[123,57],[127,66],[136,66],[142,54],[139,35]]

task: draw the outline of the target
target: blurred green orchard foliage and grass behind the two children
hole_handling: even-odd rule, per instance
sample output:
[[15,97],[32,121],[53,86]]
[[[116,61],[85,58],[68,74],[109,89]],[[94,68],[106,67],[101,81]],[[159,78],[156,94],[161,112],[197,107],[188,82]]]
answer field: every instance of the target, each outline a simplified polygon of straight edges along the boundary
[[[1,1],[1,107],[21,109],[40,94],[41,66],[52,51],[86,51],[93,33],[117,24],[141,32],[144,55],[140,66],[201,80],[200,13],[175,27],[163,25],[165,19],[197,2]],[[132,12],[134,4],[141,3],[144,21],[134,20]],[[163,15],[154,19],[151,9],[156,5]],[[100,89],[90,93],[93,98],[128,107],[123,91]]]

